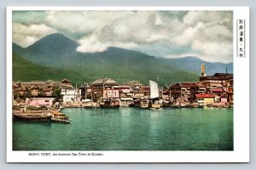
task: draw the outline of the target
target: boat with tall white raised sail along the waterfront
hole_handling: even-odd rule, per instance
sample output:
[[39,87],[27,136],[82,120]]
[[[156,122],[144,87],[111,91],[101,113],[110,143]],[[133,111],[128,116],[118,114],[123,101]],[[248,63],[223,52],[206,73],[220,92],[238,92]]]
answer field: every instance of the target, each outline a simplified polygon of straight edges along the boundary
[[160,109],[161,101],[159,96],[159,89],[157,82],[149,80],[150,86],[150,99],[149,99],[149,107],[150,109]]

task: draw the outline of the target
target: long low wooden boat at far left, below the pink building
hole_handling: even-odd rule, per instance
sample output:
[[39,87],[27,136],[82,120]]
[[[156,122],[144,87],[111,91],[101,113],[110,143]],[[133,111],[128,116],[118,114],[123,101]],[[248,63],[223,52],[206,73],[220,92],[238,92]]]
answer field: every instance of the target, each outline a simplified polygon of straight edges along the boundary
[[50,112],[14,114],[15,119],[27,122],[49,122],[53,116]]

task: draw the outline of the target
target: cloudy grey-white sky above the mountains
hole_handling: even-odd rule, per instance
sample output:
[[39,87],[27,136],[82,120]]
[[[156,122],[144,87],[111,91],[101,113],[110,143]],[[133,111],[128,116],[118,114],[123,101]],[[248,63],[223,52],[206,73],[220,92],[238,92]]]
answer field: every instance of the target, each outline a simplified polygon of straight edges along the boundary
[[58,32],[83,53],[108,47],[163,58],[233,60],[231,11],[14,11],[13,42],[27,47]]

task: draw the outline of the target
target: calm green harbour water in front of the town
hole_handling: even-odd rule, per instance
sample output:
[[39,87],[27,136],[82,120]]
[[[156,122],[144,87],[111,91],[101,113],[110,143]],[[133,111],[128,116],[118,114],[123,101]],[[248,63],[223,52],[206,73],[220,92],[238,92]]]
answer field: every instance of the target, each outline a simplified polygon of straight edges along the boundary
[[72,124],[13,123],[14,150],[233,150],[232,109],[64,109]]

